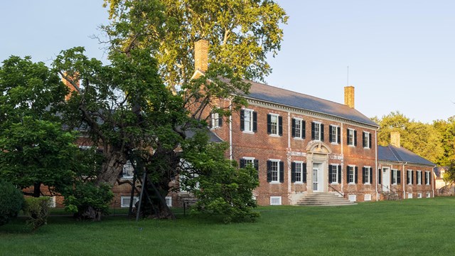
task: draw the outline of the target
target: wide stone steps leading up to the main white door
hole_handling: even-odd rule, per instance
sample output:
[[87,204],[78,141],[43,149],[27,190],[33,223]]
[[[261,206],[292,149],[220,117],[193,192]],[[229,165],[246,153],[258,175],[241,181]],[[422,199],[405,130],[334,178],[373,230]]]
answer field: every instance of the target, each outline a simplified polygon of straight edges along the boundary
[[297,206],[353,206],[356,204],[334,193],[307,194],[296,203]]

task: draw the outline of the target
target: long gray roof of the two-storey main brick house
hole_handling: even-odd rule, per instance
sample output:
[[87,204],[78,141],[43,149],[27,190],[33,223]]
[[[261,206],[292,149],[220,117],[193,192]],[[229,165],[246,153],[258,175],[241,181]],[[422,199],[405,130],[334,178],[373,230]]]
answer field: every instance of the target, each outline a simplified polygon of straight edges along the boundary
[[245,97],[295,107],[301,110],[328,114],[333,117],[341,117],[343,119],[379,127],[379,125],[370,118],[346,105],[330,100],[323,100],[319,97],[304,95],[299,92],[292,92],[290,90],[264,85],[259,82],[247,82],[250,82],[251,87],[250,94],[245,95]]

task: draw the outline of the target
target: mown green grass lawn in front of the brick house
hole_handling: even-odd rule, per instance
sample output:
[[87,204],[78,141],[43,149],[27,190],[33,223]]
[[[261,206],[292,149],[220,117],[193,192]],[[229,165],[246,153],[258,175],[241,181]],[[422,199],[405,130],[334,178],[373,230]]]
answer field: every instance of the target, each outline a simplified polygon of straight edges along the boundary
[[0,227],[0,255],[454,255],[455,198],[343,207],[258,208],[256,223],[53,216],[36,233],[23,219]]

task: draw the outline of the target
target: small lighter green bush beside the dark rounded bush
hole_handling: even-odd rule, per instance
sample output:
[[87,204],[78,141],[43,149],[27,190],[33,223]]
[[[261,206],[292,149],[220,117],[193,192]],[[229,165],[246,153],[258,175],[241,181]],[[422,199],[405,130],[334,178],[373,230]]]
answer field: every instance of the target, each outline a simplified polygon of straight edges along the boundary
[[48,196],[26,198],[23,213],[28,216],[27,224],[33,231],[48,223],[49,208],[50,197]]

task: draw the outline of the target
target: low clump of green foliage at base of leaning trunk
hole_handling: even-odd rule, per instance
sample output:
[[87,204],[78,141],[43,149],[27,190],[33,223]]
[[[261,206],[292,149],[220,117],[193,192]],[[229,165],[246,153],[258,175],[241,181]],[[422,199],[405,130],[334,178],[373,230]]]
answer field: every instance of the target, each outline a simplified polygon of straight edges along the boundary
[[109,203],[114,197],[112,186],[106,183],[96,185],[93,182],[76,182],[73,188],[67,188],[63,192],[65,196],[65,210],[75,213],[79,218],[87,218],[85,215],[92,210],[97,218],[109,213]]

